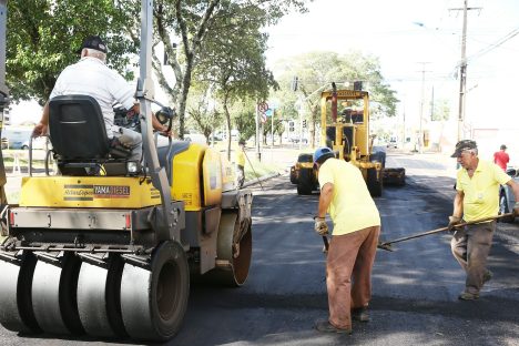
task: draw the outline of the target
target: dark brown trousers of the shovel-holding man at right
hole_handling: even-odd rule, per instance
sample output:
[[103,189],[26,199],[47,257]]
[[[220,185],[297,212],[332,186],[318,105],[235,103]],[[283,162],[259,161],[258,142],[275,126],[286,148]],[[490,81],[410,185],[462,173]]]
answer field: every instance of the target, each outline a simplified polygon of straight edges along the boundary
[[496,221],[465,226],[450,241],[455,258],[467,273],[465,292],[478,294],[487,272],[487,257],[492,245]]

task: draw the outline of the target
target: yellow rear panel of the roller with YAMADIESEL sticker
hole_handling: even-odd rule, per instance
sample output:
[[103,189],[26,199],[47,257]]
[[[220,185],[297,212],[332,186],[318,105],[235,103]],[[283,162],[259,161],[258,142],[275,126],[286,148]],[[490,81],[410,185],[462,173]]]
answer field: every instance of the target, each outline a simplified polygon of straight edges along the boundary
[[24,176],[20,206],[142,208],[161,204],[150,179],[128,176]]

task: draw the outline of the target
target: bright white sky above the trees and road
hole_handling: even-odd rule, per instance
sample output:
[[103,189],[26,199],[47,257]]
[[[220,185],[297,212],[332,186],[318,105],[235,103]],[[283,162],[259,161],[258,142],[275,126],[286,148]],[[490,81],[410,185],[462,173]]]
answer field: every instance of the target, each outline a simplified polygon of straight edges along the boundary
[[[267,61],[315,50],[372,54],[397,91],[400,119],[419,122],[424,86],[425,104],[432,92],[435,100],[448,100],[455,121],[462,32],[462,11],[455,9],[462,7],[464,0],[315,0],[307,13],[268,29]],[[519,111],[510,102],[519,80],[519,1],[468,0],[468,7],[475,9],[467,14],[466,130],[519,131]]]

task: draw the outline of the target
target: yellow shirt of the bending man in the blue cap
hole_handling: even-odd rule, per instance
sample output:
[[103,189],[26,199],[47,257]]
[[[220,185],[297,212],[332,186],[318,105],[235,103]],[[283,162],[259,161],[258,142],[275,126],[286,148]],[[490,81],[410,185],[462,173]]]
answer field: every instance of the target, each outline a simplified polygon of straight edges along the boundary
[[319,167],[319,185],[334,184],[328,207],[334,222],[333,235],[343,235],[380,225],[380,215],[369,195],[360,170],[337,159],[328,159]]

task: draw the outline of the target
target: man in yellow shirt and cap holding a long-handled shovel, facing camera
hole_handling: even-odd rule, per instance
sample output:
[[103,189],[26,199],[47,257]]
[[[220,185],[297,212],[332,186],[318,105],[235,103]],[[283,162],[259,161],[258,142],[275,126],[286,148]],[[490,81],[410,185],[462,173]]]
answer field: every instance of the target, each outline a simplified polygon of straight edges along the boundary
[[[471,222],[479,218],[496,216],[499,212],[499,185],[509,185],[519,201],[519,185],[498,165],[480,160],[475,141],[464,140],[456,144],[451,157],[457,157],[460,169],[456,180],[456,196],[452,216],[449,216],[449,227],[461,221]],[[519,202],[516,202],[513,213],[519,215]],[[465,291],[460,299],[479,298],[482,285],[492,277],[487,269],[487,257],[492,244],[496,221],[467,225],[456,230],[450,242],[455,258],[467,273]]]

